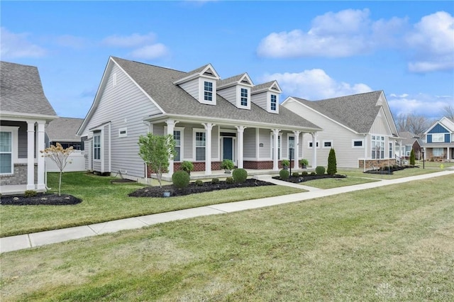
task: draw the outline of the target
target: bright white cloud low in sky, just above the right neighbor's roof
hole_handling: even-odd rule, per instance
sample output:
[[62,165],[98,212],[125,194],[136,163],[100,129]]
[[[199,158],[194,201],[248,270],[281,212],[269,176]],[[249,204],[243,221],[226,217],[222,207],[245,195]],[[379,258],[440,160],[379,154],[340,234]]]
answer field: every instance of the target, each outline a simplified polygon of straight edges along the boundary
[[309,100],[329,99],[372,91],[366,84],[337,82],[329,77],[323,69],[310,69],[299,73],[265,74],[261,80],[263,82],[277,80],[287,96],[297,96]]

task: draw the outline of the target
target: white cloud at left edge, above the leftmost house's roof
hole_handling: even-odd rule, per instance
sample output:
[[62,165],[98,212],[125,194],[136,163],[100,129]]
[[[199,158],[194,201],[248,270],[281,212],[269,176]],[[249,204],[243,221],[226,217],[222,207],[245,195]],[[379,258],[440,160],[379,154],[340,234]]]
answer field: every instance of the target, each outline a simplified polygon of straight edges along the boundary
[[8,60],[17,57],[43,57],[46,50],[28,40],[29,33],[11,33],[1,27],[1,59]]

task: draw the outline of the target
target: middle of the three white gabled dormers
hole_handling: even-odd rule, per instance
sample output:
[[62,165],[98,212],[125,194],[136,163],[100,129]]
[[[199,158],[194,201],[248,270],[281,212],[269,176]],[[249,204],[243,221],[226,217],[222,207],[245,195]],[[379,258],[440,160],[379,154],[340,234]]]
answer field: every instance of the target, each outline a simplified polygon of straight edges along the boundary
[[218,94],[240,109],[250,110],[253,82],[247,73],[219,80]]

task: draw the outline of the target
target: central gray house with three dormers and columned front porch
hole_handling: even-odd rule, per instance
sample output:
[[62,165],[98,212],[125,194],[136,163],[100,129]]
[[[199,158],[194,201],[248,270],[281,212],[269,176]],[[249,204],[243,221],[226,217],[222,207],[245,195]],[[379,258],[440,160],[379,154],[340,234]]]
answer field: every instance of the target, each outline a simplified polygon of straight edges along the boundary
[[138,155],[138,138],[148,132],[175,138],[167,177],[184,160],[206,175],[221,170],[223,159],[278,170],[303,133],[321,130],[279,106],[280,94],[277,82],[254,85],[247,73],[221,80],[210,64],[179,72],[109,57],[77,132],[88,152],[87,170],[146,179],[150,171]]

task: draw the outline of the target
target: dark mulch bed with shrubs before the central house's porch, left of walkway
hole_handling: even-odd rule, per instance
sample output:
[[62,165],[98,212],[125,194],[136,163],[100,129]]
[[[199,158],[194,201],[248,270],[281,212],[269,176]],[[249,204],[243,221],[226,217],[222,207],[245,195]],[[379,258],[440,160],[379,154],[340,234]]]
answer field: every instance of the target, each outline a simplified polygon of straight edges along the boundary
[[128,196],[131,197],[163,197],[164,192],[170,192],[170,196],[184,196],[189,194],[197,194],[203,192],[211,192],[223,189],[232,189],[232,188],[248,188],[251,186],[273,186],[267,181],[261,181],[257,179],[246,179],[243,183],[233,183],[227,184],[226,181],[219,181],[218,184],[211,184],[211,182],[204,182],[201,186],[197,186],[194,182],[190,183],[187,188],[176,189],[175,186],[167,185],[162,186],[147,186],[143,189],[138,189]]

